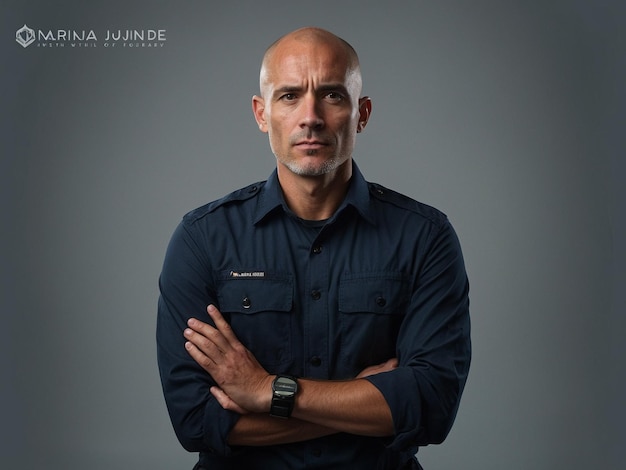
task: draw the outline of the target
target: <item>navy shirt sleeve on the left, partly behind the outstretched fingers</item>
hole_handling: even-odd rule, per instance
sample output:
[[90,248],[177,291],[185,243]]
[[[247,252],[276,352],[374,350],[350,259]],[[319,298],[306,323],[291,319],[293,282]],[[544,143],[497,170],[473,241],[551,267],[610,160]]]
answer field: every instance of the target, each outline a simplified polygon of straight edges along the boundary
[[228,455],[226,439],[238,415],[213,398],[209,388],[215,382],[184,346],[187,320],[211,323],[206,307],[215,302],[210,265],[196,239],[183,220],[167,248],[159,278],[157,360],[165,402],[182,446],[190,452]]

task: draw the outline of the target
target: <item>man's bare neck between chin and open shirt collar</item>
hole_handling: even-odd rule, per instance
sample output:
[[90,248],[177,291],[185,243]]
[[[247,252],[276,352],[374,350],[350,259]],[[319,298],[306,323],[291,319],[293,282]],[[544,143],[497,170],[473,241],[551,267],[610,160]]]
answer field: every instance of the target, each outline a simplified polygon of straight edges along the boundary
[[324,220],[335,213],[346,196],[352,160],[320,176],[296,175],[280,163],[277,171],[285,202],[294,214],[305,220]]

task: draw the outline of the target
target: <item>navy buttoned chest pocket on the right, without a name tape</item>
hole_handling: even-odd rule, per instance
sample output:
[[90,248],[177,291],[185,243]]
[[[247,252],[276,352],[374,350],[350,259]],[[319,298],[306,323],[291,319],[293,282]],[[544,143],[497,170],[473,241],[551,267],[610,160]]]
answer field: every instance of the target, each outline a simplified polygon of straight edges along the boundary
[[343,362],[351,371],[396,356],[400,325],[411,290],[403,273],[351,273],[339,283],[339,334]]

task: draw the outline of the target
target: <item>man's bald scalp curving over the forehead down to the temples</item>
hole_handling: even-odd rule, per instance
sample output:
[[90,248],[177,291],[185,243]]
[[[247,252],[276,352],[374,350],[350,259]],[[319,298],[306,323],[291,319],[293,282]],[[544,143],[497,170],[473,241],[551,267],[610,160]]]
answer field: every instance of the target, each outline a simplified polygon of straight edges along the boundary
[[358,76],[359,84],[361,83],[361,66],[359,64],[359,57],[350,43],[339,36],[334,35],[330,31],[326,31],[325,29],[306,27],[285,34],[274,41],[274,43],[272,43],[265,51],[259,75],[259,88],[261,96],[265,96],[269,70],[273,65],[276,52],[280,50],[281,46],[287,46],[289,41],[295,41],[303,44],[325,45],[334,48],[338,52],[340,51],[345,54],[345,58],[347,59],[348,72],[356,74]]

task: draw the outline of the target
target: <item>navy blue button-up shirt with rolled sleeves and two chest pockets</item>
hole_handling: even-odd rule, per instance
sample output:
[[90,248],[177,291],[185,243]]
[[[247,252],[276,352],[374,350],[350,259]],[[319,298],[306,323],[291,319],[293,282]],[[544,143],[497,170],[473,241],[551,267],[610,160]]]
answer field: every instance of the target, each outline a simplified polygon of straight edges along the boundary
[[[188,213],[172,236],[158,363],[176,434],[207,468],[398,468],[452,426],[470,364],[458,239],[444,214],[353,166],[343,203],[322,223],[287,207],[274,171]],[[394,435],[230,447],[238,415],[212,397],[212,378],[184,347],[187,320],[211,323],[210,303],[270,374],[350,379],[397,357],[397,369],[367,378],[391,409]]]

